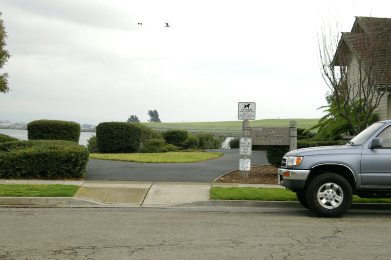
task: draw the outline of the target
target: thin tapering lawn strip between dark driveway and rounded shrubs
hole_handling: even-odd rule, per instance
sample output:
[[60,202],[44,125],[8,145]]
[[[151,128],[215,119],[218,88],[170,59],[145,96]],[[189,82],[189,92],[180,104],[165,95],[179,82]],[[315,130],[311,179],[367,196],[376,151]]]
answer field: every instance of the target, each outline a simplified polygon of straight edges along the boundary
[[213,160],[221,157],[222,155],[222,153],[210,152],[171,152],[152,154],[89,154],[89,158],[133,162],[180,163]]

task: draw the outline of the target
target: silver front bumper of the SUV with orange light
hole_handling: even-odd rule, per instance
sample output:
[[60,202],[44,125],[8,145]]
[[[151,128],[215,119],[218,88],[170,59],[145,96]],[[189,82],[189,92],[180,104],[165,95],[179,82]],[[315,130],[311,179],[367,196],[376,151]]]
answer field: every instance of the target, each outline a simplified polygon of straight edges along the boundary
[[[278,184],[288,189],[303,189],[305,180],[307,180],[309,172],[310,170],[293,170],[279,168],[277,172]],[[289,176],[284,176],[284,173],[289,173]]]

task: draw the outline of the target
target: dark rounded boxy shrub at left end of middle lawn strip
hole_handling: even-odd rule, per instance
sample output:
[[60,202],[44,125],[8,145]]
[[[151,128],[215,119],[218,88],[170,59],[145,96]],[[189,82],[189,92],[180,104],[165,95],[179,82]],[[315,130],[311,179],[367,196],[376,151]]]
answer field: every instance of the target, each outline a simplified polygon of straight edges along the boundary
[[139,152],[142,131],[133,123],[103,122],[96,126],[96,141],[101,153]]

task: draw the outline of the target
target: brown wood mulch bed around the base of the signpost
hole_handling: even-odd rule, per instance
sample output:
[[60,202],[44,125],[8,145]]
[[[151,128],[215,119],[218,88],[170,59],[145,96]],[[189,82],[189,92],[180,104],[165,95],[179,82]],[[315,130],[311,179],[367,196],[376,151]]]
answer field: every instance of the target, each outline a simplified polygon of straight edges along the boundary
[[247,179],[240,178],[240,171],[228,173],[215,182],[246,183],[246,184],[278,184],[277,168],[272,165],[251,167]]

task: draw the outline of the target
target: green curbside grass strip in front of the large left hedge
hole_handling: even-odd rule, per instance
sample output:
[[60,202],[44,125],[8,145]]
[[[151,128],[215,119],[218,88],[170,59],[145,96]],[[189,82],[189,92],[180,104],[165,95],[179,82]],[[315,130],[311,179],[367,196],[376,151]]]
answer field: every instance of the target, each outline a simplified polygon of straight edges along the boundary
[[0,184],[1,197],[72,197],[77,185]]

